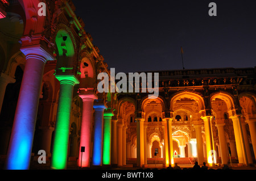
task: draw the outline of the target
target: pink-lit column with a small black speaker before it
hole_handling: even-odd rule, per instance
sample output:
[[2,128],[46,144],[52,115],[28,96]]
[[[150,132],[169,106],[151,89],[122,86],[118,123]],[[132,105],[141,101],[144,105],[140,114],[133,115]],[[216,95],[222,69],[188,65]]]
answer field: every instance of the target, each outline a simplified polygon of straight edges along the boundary
[[[90,145],[92,138],[92,116],[93,102],[98,99],[94,94],[81,94],[82,98],[82,124],[79,146],[79,159],[77,161],[80,167],[90,167]],[[81,146],[85,146],[85,152],[81,154]],[[82,165],[81,165],[82,161]]]

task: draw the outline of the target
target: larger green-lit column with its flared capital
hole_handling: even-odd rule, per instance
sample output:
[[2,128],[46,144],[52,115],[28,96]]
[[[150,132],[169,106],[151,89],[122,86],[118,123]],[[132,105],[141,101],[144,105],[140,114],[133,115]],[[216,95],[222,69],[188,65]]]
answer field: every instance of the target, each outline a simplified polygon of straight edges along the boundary
[[73,88],[79,81],[74,75],[55,75],[60,81],[55,137],[52,150],[52,169],[65,169],[68,157],[68,137]]

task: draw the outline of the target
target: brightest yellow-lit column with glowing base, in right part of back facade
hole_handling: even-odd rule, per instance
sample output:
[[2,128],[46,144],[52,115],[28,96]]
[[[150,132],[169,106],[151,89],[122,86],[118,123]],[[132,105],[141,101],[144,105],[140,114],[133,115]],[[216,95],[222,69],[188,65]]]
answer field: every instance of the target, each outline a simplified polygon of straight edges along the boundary
[[212,134],[212,116],[202,117],[204,120],[205,142],[207,147],[208,163],[216,163],[216,152],[214,150],[213,134]]

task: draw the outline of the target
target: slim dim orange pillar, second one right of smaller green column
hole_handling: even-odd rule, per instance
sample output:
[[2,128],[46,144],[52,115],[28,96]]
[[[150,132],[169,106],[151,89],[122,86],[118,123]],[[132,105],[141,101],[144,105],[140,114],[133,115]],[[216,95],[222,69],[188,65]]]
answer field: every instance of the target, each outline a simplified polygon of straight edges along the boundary
[[123,142],[123,124],[117,124],[117,166],[123,165],[123,156],[122,156],[122,144]]

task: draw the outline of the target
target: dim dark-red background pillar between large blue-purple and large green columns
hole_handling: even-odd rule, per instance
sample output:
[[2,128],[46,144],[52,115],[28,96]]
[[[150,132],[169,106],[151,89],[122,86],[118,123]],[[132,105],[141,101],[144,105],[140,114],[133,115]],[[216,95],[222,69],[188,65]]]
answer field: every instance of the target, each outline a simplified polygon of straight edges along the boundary
[[53,127],[39,127],[41,130],[41,144],[40,150],[45,150],[47,156],[51,156],[51,141],[52,141],[52,132],[54,131]]

